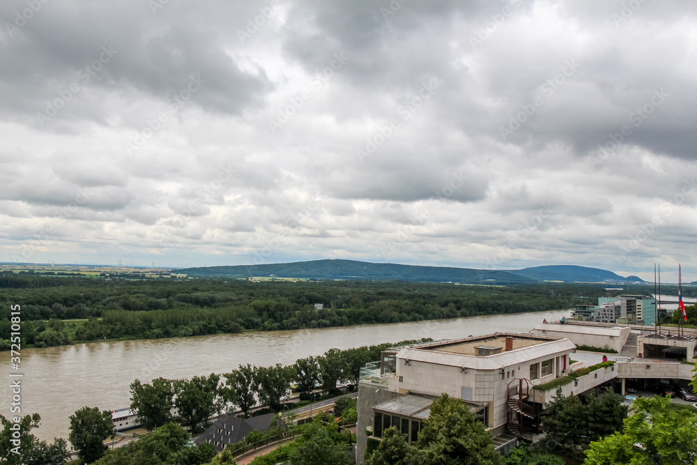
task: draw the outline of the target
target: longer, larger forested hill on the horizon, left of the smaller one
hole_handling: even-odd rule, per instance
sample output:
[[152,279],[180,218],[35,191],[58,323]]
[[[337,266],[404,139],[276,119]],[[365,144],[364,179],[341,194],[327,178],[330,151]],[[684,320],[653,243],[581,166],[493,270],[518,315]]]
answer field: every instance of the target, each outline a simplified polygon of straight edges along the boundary
[[535,282],[523,275],[500,270],[475,270],[445,266],[374,264],[354,260],[314,260],[288,264],[208,266],[178,270],[198,277],[298,277],[309,280],[404,280],[460,282],[463,284],[520,284]]

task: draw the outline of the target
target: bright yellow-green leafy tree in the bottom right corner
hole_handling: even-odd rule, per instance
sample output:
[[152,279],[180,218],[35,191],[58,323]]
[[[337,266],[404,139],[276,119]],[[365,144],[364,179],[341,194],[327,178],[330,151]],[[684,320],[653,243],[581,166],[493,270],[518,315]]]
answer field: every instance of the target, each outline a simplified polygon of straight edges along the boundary
[[671,411],[671,399],[640,397],[622,432],[590,444],[586,465],[697,463],[697,413]]

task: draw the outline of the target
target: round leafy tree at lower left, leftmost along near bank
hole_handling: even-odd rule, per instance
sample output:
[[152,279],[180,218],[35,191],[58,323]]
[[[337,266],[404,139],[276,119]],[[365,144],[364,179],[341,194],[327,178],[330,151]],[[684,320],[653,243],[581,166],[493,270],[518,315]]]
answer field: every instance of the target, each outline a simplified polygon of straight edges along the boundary
[[97,407],[85,406],[70,416],[70,443],[77,449],[77,455],[89,464],[104,455],[107,446],[103,441],[115,431],[109,410],[100,412]]

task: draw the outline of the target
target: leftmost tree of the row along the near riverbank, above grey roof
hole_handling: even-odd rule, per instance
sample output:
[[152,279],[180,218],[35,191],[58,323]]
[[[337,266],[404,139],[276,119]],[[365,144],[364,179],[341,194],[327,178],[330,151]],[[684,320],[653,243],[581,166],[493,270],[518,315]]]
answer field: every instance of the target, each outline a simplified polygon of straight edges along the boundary
[[138,411],[141,425],[152,431],[160,425],[171,421],[171,409],[174,406],[174,383],[169,379],[156,378],[152,384],[142,384],[135,380],[130,384],[132,410]]

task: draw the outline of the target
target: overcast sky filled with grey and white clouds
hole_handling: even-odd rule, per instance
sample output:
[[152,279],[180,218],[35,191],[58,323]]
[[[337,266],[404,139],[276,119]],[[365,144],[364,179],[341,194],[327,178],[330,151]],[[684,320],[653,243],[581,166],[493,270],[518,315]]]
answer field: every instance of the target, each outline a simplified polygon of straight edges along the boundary
[[696,13],[3,1],[0,261],[697,280]]

